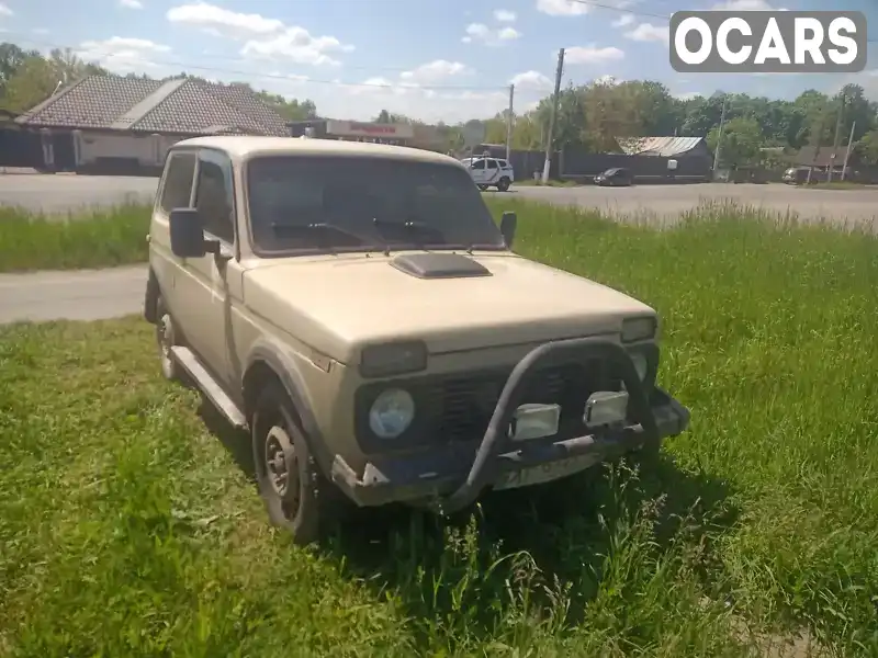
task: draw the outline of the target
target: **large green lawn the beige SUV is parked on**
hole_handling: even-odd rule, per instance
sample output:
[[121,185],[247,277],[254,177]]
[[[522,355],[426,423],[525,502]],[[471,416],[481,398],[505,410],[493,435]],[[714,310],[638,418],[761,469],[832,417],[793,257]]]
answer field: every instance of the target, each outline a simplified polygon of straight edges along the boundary
[[876,655],[876,240],[491,204],[661,313],[657,463],[296,548],[142,320],[0,328],[0,656]]

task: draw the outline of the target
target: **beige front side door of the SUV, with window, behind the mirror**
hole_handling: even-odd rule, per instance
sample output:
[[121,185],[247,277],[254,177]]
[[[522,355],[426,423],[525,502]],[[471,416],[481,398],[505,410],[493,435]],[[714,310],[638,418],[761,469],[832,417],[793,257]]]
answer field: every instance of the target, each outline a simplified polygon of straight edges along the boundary
[[185,273],[192,290],[190,309],[192,326],[187,333],[190,347],[204,365],[223,384],[230,383],[232,352],[229,341],[230,303],[229,282],[240,277],[236,258],[236,218],[232,161],[215,149],[200,149],[192,191],[192,207],[209,239],[219,241],[217,253],[188,259]]

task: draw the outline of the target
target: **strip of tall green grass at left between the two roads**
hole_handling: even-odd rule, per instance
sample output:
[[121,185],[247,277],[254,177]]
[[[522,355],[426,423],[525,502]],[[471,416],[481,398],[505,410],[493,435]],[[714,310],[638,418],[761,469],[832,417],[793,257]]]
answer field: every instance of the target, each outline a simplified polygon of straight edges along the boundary
[[0,206],[0,272],[105,268],[145,261],[150,207],[130,204],[41,215]]

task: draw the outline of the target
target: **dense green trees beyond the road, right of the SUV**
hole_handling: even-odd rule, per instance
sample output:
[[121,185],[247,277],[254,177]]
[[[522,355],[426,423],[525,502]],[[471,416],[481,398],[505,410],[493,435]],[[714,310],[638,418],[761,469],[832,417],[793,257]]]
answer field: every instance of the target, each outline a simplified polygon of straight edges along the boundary
[[[723,103],[725,166],[770,164],[773,154],[806,146],[824,151],[837,144],[842,150],[852,128],[856,157],[878,164],[878,102],[867,99],[859,84],[846,84],[832,95],[809,89],[792,101],[722,92],[684,100],[650,80],[571,84],[559,97],[554,146],[601,152],[615,149],[617,137],[678,135],[706,137],[716,149]],[[544,148],[551,106],[547,97],[515,117],[513,148]],[[488,122],[486,140],[506,141],[505,112]]]

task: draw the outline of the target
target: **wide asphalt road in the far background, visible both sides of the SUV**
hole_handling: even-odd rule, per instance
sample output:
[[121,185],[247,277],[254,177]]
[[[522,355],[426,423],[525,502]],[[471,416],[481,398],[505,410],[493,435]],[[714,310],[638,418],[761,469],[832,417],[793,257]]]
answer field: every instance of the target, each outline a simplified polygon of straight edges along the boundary
[[[108,206],[125,201],[151,201],[156,178],[92,175],[0,175],[0,205],[63,213],[83,206]],[[528,188],[495,196],[536,198],[559,205],[578,205],[621,214],[673,218],[702,201],[734,200],[741,204],[803,218],[873,222],[878,218],[878,189],[806,190],[783,184],[635,185],[632,188]]]

